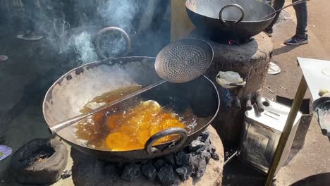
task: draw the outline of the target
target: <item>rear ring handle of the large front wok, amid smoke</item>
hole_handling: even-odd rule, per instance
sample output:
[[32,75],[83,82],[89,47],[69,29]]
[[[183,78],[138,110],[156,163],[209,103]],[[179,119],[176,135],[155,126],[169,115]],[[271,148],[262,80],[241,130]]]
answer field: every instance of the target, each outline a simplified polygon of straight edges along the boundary
[[130,47],[131,47],[130,37],[125,32],[125,30],[121,29],[120,27],[104,27],[104,28],[102,28],[102,30],[99,30],[99,32],[97,32],[96,37],[95,37],[96,52],[97,52],[97,56],[99,56],[99,58],[108,59],[108,57],[104,56],[104,54],[101,51],[101,47],[99,46],[101,35],[103,35],[107,32],[113,32],[113,31],[121,32],[121,35],[123,35],[124,39],[126,40],[126,51],[123,53],[123,56],[126,56],[126,54],[128,54],[128,52],[130,51]]

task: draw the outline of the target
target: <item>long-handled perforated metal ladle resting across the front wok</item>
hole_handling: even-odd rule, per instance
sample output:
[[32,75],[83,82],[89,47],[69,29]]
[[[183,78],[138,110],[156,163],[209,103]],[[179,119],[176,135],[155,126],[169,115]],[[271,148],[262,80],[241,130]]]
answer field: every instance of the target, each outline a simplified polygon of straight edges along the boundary
[[92,116],[94,113],[108,109],[110,106],[135,97],[138,94],[146,92],[153,87],[163,84],[164,82],[182,83],[194,80],[209,68],[213,61],[213,49],[210,44],[204,42],[201,39],[181,39],[176,42],[172,42],[168,46],[165,46],[157,55],[154,63],[154,68],[163,80],[155,82],[152,85],[139,89],[132,94],[128,94],[125,97],[111,101],[109,104],[100,106],[97,109],[92,110],[90,113],[84,113],[68,120],[64,120],[56,125],[52,125],[49,130],[52,134],[67,128],[78,121]]

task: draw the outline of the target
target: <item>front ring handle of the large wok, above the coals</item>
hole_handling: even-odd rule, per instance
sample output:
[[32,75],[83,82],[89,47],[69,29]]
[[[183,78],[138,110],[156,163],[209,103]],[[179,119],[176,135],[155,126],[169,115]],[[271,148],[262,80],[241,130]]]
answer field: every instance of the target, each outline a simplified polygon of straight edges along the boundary
[[[162,151],[160,149],[157,149],[156,147],[152,147],[154,142],[157,142],[157,140],[161,139],[162,137],[166,137],[168,135],[181,135],[181,139],[178,142],[178,144],[175,144],[173,146],[166,147]],[[185,140],[188,138],[188,132],[187,130],[183,128],[168,128],[166,130],[162,130],[161,132],[157,132],[156,134],[152,135],[152,137],[145,142],[145,151],[147,151],[147,154],[157,154],[159,152],[164,151],[176,151],[177,149],[180,149],[185,144]]]

